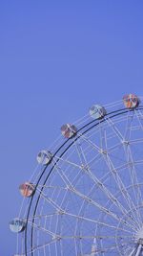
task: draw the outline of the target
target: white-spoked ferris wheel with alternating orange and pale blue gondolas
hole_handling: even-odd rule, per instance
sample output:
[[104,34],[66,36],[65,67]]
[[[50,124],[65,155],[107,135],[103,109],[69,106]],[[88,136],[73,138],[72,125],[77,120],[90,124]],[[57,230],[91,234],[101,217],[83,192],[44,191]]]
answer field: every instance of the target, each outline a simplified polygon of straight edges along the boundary
[[10,221],[15,256],[143,255],[143,106],[92,105],[37,155]]

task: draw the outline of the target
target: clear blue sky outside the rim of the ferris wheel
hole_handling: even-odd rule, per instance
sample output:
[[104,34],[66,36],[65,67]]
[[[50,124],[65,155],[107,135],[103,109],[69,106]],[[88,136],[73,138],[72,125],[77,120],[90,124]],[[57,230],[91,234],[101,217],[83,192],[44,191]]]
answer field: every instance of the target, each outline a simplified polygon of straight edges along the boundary
[[1,1],[0,255],[39,150],[94,103],[143,95],[143,2]]

